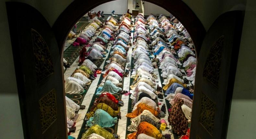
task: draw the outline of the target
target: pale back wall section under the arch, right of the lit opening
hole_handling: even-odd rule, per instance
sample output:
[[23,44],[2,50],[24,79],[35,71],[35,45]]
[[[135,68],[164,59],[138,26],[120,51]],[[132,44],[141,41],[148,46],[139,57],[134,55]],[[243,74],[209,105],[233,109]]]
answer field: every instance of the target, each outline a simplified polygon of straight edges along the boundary
[[164,8],[145,1],[144,15],[149,16],[150,14],[157,15],[157,16],[160,14],[163,14],[165,16],[170,16],[170,13],[166,11]]

